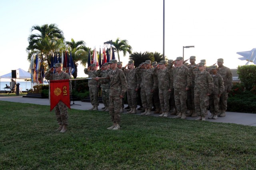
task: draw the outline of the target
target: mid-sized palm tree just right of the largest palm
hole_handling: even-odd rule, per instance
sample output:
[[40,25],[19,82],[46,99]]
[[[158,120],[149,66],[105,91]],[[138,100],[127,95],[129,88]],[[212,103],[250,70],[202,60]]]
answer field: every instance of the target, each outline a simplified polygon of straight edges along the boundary
[[86,59],[86,51],[88,50],[85,46],[84,41],[74,41],[74,39],[71,39],[71,41],[65,42],[66,47],[69,51],[72,53],[72,59],[75,65],[75,72],[72,74],[74,78],[77,77],[77,66],[78,61],[83,61],[83,59]]

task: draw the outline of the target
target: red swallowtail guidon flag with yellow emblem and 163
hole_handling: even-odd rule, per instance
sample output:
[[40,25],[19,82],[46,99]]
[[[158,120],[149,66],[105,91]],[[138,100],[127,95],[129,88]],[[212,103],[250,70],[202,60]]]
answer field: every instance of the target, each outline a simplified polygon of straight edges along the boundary
[[50,111],[62,101],[70,108],[69,80],[50,80]]

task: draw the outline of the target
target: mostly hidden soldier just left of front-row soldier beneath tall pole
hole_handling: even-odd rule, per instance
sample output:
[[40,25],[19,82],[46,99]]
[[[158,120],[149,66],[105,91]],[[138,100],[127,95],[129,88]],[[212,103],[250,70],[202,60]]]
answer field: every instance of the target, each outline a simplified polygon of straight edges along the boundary
[[[152,63],[153,68],[155,68],[157,66],[157,62],[154,61]],[[158,67],[157,69],[160,69],[160,67]],[[160,109],[160,100],[159,100],[159,90],[158,90],[158,78],[157,78],[157,73],[154,73],[154,80],[156,80],[156,89],[153,92],[153,98],[152,98],[152,104],[153,104],[153,109],[152,111],[154,111],[154,114],[158,114],[160,112],[162,112]]]

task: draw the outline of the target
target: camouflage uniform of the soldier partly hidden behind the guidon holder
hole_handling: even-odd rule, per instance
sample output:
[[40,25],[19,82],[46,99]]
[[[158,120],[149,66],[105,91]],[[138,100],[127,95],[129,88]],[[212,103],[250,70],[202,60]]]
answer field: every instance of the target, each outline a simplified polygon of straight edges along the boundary
[[[108,72],[110,72],[110,69],[108,70],[97,70],[97,76],[98,77],[106,77],[108,75]],[[110,83],[106,83],[106,84],[100,84],[100,87],[102,89],[102,102],[104,104],[105,107],[108,107],[109,105],[109,86]]]

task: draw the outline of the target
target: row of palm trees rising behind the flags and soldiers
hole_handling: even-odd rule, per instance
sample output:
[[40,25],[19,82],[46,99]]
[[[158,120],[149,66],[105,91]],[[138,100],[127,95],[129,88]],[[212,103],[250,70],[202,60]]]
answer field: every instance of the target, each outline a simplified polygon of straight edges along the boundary
[[[74,78],[77,77],[77,66],[78,62],[83,66],[86,66],[88,61],[88,47],[84,41],[65,41],[63,31],[58,28],[56,24],[44,24],[44,25],[34,25],[30,30],[31,34],[28,37],[28,47],[26,51],[28,53],[28,61],[31,61],[33,54],[38,53],[39,57],[44,61],[44,67],[50,67],[51,57],[54,53],[63,51],[68,51],[72,53],[72,59],[75,65],[75,72],[72,74]],[[129,45],[127,40],[121,40],[117,38],[113,42],[114,52],[118,55],[118,61],[120,61],[119,53],[122,51],[123,55],[126,56],[127,53],[130,54],[129,59],[134,60],[135,66],[140,63],[151,60],[160,62],[164,59],[163,55],[160,53],[144,52],[144,53],[132,53],[132,47]],[[92,54],[92,53],[91,53]],[[99,56],[98,56],[99,57]]]

